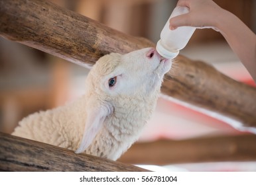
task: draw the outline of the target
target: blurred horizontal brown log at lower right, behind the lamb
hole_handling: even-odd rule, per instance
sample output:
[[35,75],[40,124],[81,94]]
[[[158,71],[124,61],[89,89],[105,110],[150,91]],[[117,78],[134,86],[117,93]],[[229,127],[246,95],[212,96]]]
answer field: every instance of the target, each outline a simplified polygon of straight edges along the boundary
[[135,143],[118,161],[147,165],[256,161],[255,143],[256,135]]

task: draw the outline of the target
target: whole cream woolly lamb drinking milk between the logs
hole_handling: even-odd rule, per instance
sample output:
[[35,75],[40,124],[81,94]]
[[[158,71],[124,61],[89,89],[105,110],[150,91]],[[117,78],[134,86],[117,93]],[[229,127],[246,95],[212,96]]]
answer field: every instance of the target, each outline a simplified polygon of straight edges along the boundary
[[171,65],[155,48],[104,55],[90,70],[82,97],[23,118],[12,134],[117,160],[151,117]]

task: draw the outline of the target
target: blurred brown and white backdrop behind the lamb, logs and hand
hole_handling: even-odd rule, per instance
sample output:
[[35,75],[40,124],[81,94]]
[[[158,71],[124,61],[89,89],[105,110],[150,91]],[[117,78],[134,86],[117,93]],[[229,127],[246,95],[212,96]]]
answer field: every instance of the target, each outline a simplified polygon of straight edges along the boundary
[[[157,43],[175,0],[51,0],[53,3],[102,22],[111,28]],[[256,1],[216,0],[256,32]],[[225,75],[255,86],[223,36],[197,29],[180,52],[214,65]],[[0,131],[11,133],[19,120],[74,100],[84,92],[88,69],[0,37]],[[255,113],[256,114],[256,113]],[[157,110],[139,142],[244,134],[216,118],[160,97]],[[167,164],[166,164],[167,165]],[[183,170],[256,170],[255,163],[177,165]],[[170,166],[168,167],[170,169]]]

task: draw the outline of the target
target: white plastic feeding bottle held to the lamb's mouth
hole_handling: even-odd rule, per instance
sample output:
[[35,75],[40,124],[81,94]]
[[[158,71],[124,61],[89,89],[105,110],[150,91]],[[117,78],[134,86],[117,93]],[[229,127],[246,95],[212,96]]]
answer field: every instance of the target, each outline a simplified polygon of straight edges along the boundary
[[172,17],[188,12],[189,9],[187,7],[176,7],[164,25],[160,34],[160,40],[157,42],[157,52],[159,52],[162,57],[172,59],[188,44],[188,40],[190,40],[196,28],[191,26],[180,26],[175,30],[170,30],[169,28],[169,20]]

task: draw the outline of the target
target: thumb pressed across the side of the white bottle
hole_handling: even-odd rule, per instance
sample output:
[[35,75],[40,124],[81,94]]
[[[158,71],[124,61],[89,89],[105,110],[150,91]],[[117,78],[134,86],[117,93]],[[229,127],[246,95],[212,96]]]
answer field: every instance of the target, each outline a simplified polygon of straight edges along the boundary
[[179,26],[192,26],[189,13],[172,17],[169,23],[170,30],[175,30]]

